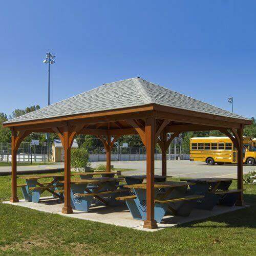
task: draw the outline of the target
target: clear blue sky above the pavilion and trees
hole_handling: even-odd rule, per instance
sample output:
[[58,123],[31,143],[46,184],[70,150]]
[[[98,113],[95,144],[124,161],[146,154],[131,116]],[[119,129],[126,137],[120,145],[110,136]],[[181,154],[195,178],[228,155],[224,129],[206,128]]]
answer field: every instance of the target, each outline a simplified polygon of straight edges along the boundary
[[0,112],[140,76],[256,115],[255,1],[1,1]]

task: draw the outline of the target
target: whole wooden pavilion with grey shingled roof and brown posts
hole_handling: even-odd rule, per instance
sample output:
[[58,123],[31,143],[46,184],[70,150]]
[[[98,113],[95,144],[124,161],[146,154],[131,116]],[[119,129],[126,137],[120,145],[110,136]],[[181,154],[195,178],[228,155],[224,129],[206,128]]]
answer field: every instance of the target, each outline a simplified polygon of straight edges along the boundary
[[[97,136],[106,151],[110,172],[111,149],[122,135],[139,134],[146,147],[146,220],[144,227],[156,228],[154,219],[154,153],[162,150],[162,175],[166,175],[166,150],[181,132],[219,130],[238,150],[238,189],[243,183],[242,136],[250,119],[147,82],[140,77],[106,83],[77,96],[5,122],[12,132],[12,195],[18,202],[16,154],[20,142],[32,132],[56,133],[65,150],[64,214],[71,214],[70,152],[77,134]],[[167,133],[171,133],[167,138]],[[237,205],[244,205],[239,194]]]

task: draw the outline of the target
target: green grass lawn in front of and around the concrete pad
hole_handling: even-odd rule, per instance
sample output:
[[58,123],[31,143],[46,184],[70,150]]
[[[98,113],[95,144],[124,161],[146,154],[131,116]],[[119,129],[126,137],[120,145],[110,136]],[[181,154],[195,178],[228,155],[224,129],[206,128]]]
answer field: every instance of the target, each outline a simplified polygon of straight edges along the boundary
[[[245,201],[251,207],[157,232],[0,204],[0,253],[255,254],[256,186],[245,188]],[[22,198],[19,190],[18,196]],[[8,200],[9,196],[10,177],[0,177],[0,199]]]

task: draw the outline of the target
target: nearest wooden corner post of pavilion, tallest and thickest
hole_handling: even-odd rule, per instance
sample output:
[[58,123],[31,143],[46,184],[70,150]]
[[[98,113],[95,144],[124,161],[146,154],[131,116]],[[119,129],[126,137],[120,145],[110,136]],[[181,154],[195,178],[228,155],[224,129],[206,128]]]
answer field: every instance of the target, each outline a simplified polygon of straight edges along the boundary
[[146,140],[146,220],[144,228],[157,228],[154,212],[154,170],[155,170],[155,126],[156,120],[153,117],[146,118],[145,124]]

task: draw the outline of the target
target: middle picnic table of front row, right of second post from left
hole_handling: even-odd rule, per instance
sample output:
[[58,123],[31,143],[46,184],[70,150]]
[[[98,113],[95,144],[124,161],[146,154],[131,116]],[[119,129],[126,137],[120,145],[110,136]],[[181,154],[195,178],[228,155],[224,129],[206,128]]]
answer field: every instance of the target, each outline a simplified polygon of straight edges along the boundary
[[[92,203],[116,205],[116,195],[128,195],[130,189],[117,186],[122,178],[99,177],[71,181],[71,206],[75,210],[88,212]],[[60,181],[63,183],[63,181]]]

